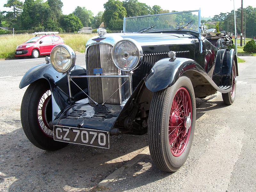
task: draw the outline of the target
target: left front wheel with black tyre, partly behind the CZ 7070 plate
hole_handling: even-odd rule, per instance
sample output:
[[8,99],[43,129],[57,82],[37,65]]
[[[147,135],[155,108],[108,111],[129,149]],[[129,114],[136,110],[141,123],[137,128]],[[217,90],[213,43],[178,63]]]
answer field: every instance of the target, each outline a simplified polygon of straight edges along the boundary
[[36,81],[30,84],[23,96],[20,108],[23,130],[31,143],[44,150],[57,150],[67,146],[53,140],[52,96],[48,83]]

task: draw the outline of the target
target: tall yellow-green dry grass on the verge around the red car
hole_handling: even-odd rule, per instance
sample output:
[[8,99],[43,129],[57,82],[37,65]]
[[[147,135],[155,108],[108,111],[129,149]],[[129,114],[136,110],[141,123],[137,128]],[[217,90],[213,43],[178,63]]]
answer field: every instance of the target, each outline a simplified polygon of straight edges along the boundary
[[[70,46],[74,51],[85,51],[85,44],[89,38],[96,34],[60,34],[64,43]],[[34,35],[4,35],[0,36],[0,58],[14,58],[14,52],[18,45],[24,43]]]

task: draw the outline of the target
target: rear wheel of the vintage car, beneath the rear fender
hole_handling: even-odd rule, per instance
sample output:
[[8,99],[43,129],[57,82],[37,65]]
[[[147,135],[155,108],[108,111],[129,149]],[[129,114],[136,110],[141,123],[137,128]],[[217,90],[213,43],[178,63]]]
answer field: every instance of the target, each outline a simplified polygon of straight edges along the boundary
[[222,93],[222,99],[226,105],[231,105],[236,96],[236,64],[233,61],[232,65],[232,90],[228,93]]

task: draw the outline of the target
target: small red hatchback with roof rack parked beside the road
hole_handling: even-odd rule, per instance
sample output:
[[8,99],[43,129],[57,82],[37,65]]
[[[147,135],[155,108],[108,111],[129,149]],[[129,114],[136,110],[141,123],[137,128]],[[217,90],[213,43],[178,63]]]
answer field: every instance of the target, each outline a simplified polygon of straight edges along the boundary
[[63,39],[53,33],[37,33],[35,37],[16,47],[15,57],[38,58],[39,55],[49,55],[55,45],[63,43]]

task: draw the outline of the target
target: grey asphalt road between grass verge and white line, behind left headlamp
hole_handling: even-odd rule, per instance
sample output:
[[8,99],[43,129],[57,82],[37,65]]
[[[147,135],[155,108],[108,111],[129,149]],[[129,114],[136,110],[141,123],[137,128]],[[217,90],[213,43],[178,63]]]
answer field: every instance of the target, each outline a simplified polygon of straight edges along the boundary
[[[0,60],[0,78],[23,76],[28,69],[40,63],[45,63],[45,57]],[[84,53],[76,54],[76,65],[85,66]]]

